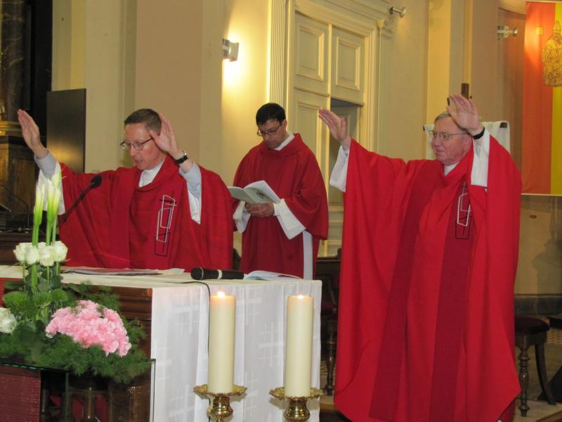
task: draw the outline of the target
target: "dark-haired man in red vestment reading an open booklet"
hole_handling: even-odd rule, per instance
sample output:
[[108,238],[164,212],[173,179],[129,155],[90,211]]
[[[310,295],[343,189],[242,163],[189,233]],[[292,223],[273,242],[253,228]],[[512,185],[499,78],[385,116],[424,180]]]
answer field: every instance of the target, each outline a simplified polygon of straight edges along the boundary
[[267,103],[256,113],[263,141],[242,159],[234,185],[264,180],[280,203],[235,204],[244,272],[261,269],[312,279],[320,239],[328,232],[326,188],[313,152],[287,132],[285,110]]

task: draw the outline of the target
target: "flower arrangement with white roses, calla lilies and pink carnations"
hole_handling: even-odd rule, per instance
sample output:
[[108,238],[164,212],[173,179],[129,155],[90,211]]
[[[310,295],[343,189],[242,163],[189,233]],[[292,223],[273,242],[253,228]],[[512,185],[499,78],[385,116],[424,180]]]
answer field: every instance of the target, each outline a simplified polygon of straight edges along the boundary
[[[65,369],[81,375],[112,378],[121,383],[145,372],[150,361],[138,349],[142,328],[119,315],[109,290],[93,293],[87,284],[63,285],[60,265],[67,248],[56,241],[61,177],[38,184],[31,243],[20,243],[14,255],[22,282],[6,283],[6,307],[0,307],[0,359]],[[46,241],[39,226],[46,201]]]

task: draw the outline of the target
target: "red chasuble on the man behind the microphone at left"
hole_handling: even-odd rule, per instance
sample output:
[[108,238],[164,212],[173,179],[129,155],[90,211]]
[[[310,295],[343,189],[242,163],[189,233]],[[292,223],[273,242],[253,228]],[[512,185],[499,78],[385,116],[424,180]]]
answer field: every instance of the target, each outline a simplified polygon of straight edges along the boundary
[[[100,173],[90,191],[60,227],[69,265],[109,268],[232,267],[232,199],[217,174],[200,166],[201,224],[191,219],[187,182],[166,157],[152,183],[138,187],[136,167]],[[89,186],[92,174],[63,165],[65,208]]]

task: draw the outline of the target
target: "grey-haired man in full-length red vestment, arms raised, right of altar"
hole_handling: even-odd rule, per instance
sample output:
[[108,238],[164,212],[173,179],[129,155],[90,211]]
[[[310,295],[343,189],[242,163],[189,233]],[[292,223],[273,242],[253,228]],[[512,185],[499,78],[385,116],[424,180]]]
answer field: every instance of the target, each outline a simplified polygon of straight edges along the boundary
[[335,402],[362,421],[511,421],[521,179],[471,100],[436,118],[436,160],[371,153],[345,120]]

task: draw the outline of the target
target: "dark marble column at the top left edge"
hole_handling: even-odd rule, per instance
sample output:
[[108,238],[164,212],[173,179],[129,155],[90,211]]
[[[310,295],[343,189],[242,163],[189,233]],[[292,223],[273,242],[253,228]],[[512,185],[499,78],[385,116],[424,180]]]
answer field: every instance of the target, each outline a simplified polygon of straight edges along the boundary
[[0,126],[18,121],[25,75],[25,0],[0,0]]

